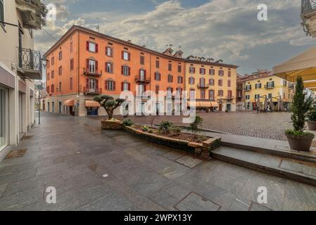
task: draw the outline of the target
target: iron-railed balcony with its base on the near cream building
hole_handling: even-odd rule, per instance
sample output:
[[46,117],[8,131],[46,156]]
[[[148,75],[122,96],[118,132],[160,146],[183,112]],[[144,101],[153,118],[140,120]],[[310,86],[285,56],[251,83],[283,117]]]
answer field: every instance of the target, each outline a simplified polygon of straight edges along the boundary
[[42,57],[39,51],[18,48],[18,73],[29,79],[42,79]]

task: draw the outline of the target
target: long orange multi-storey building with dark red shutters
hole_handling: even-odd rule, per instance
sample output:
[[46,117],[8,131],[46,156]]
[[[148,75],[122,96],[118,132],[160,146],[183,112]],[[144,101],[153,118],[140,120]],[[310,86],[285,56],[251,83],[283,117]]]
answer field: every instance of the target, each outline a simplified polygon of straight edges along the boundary
[[[143,98],[145,91],[181,94],[187,84],[188,63],[196,63],[196,68],[200,64],[225,67],[220,63],[184,59],[182,54],[180,50],[174,53],[171,48],[159,53],[131,41],[73,26],[44,55],[46,111],[78,116],[106,115],[93,101],[94,97],[105,94],[119,98],[122,91],[141,96],[141,101],[134,105],[139,111],[148,100]],[[228,74],[229,69],[225,70]],[[236,77],[236,72],[233,74]],[[234,84],[236,78],[232,80],[232,90],[236,90]],[[170,106],[158,98],[155,107],[157,112],[170,107],[175,110],[173,103]]]

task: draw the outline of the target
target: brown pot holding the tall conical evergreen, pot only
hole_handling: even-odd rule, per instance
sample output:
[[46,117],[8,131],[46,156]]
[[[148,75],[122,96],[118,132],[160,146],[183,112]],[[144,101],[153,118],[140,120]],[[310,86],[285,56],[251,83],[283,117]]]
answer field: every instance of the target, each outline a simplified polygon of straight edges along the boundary
[[315,136],[295,136],[286,134],[286,138],[289,141],[291,149],[308,152],[310,146],[312,146],[312,139],[314,139]]

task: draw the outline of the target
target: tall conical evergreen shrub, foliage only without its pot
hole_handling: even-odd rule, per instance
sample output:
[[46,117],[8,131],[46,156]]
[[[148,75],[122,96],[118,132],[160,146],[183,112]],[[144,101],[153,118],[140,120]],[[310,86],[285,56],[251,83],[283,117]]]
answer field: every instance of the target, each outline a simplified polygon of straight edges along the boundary
[[312,107],[312,97],[308,97],[304,91],[304,84],[302,77],[296,79],[296,91],[293,96],[293,104],[291,110],[293,115],[291,117],[293,123],[293,131],[287,131],[288,134],[301,135],[304,134],[304,127],[308,111]]

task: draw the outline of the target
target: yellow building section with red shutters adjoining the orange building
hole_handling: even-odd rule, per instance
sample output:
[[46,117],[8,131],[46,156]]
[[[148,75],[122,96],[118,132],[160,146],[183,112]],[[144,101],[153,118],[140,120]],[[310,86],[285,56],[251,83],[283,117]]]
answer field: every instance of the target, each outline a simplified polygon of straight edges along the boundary
[[236,111],[236,70],[236,65],[187,58],[185,90],[189,104],[206,110]]

